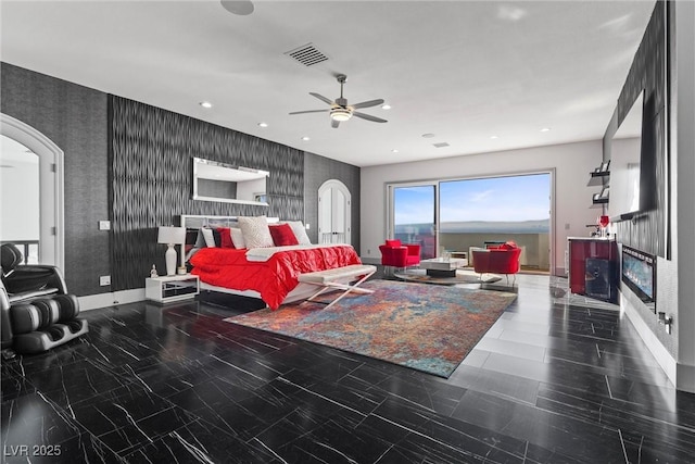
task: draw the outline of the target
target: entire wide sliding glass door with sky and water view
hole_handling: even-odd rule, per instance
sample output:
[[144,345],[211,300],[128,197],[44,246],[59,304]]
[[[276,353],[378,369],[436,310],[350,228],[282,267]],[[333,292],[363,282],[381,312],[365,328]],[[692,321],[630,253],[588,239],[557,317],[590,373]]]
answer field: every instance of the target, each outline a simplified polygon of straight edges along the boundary
[[552,262],[552,173],[389,185],[389,237],[420,243],[422,259],[443,251],[515,241],[521,265]]

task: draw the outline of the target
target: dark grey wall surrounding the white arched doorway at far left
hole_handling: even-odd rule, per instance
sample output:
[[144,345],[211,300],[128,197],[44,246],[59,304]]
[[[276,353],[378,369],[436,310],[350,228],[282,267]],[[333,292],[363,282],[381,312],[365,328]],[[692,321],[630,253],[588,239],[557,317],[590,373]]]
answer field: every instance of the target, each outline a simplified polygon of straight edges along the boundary
[[[101,293],[110,274],[106,93],[0,63],[0,111],[38,129],[64,152],[65,268],[78,296]],[[17,192],[21,195],[21,192]]]

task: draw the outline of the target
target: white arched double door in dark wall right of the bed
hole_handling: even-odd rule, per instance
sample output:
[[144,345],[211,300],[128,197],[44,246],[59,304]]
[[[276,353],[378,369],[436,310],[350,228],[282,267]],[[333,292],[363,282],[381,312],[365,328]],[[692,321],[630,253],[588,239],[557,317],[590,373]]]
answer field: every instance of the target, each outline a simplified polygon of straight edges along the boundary
[[338,179],[326,180],[318,188],[318,242],[351,242],[351,195]]

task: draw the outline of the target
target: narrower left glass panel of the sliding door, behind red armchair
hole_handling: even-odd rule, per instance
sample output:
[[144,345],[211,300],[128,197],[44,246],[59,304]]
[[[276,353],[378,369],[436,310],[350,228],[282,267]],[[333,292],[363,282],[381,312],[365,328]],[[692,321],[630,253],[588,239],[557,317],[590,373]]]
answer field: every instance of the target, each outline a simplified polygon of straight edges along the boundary
[[437,256],[437,185],[390,186],[389,236],[404,243],[419,243],[420,258]]

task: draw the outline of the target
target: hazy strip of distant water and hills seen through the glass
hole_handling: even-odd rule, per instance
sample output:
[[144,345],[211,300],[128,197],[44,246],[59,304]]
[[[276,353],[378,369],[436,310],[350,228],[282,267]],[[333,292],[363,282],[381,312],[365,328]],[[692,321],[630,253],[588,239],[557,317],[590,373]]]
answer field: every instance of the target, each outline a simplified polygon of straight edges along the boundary
[[[462,221],[442,223],[441,234],[548,234],[551,231],[549,220],[538,221]],[[399,224],[396,234],[429,230],[427,224]]]

